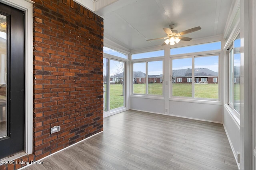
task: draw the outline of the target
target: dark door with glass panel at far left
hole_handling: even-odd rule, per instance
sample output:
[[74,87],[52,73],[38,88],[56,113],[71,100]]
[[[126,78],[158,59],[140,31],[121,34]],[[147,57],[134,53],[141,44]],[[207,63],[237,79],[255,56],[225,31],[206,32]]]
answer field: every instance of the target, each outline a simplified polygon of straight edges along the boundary
[[0,3],[0,158],[24,150],[24,23],[24,12]]

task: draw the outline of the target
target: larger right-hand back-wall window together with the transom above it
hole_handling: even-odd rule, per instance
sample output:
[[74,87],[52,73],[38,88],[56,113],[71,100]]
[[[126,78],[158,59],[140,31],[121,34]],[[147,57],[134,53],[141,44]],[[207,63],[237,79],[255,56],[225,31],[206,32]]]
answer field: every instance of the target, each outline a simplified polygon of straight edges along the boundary
[[[171,76],[173,80],[171,97],[219,100],[218,77],[220,54],[204,55],[206,53],[204,51],[208,50],[218,50],[218,53],[220,53],[221,42],[171,49]],[[193,55],[192,53],[194,52],[196,54],[200,52],[202,55]],[[190,53],[188,57],[184,56],[186,53]],[[181,78],[186,78],[186,81],[182,82],[180,80]]]

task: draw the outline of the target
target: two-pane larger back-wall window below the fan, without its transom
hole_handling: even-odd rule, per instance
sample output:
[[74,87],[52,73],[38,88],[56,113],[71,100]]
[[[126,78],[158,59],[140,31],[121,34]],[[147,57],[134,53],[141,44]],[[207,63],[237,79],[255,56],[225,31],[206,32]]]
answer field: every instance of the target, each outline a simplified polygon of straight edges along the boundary
[[[218,100],[218,70],[219,55],[172,59],[171,96]],[[186,78],[186,82],[182,82],[182,78]]]

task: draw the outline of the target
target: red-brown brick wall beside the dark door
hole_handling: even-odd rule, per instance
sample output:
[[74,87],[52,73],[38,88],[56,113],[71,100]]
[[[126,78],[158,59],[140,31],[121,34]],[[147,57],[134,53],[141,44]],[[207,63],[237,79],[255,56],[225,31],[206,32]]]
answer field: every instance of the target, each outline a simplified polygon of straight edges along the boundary
[[[39,160],[103,130],[103,19],[72,0],[33,1],[33,154],[18,160]],[[55,125],[60,132],[51,134]]]

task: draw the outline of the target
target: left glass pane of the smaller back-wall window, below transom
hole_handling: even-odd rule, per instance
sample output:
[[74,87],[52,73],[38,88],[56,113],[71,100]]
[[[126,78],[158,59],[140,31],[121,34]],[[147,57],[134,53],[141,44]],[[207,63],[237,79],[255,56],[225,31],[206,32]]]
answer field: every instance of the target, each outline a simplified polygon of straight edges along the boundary
[[133,64],[133,94],[146,94],[146,63]]

